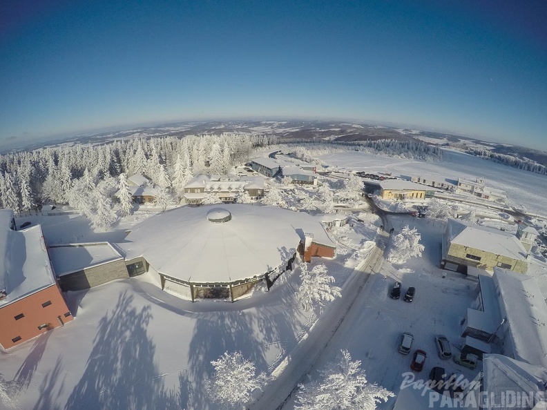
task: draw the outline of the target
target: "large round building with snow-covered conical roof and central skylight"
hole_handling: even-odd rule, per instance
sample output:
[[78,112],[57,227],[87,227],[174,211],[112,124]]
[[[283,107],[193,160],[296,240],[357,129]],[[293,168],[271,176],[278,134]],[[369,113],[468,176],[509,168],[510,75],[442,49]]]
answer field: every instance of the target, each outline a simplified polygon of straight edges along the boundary
[[148,271],[162,289],[189,300],[235,300],[258,282],[269,289],[297,252],[307,262],[336,253],[317,217],[247,204],[160,213],[135,225],[119,246],[130,273]]

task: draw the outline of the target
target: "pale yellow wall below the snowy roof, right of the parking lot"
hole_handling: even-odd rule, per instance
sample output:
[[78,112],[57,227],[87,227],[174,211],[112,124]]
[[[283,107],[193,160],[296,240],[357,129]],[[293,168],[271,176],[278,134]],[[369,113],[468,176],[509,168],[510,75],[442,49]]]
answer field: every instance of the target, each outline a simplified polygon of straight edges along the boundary
[[[454,262],[456,264],[463,264],[467,266],[476,266],[479,269],[485,269],[486,271],[493,271],[494,266],[498,263],[510,265],[510,270],[518,273],[526,273],[528,271],[528,262],[523,260],[516,260],[512,257],[503,255],[496,255],[495,253],[481,251],[480,249],[470,248],[469,246],[463,246],[460,244],[450,244],[448,248],[448,255],[446,260]],[[467,254],[481,257],[481,260],[471,260],[466,258]]]

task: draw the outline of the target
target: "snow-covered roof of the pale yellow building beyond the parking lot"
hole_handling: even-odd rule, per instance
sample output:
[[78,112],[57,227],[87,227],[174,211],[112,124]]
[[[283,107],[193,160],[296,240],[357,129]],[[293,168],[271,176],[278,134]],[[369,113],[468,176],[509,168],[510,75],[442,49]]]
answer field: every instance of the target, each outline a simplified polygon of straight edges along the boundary
[[512,233],[497,228],[474,225],[457,219],[448,219],[448,241],[503,255],[516,260],[526,260],[526,249]]

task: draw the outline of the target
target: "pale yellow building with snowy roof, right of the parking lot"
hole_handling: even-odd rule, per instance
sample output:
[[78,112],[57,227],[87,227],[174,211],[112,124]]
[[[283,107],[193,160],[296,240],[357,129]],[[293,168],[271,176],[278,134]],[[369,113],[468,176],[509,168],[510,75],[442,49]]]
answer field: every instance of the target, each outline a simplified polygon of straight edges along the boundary
[[441,268],[467,273],[468,266],[492,272],[495,266],[518,273],[528,270],[528,251],[519,239],[496,228],[448,219]]

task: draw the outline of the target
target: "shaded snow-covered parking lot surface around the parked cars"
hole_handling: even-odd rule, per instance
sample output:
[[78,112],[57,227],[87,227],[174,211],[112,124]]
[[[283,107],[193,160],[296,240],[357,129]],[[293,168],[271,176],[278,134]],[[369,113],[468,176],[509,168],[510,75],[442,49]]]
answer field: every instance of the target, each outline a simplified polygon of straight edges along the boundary
[[[479,367],[471,371],[455,364],[452,359],[443,360],[437,355],[434,336],[445,335],[450,341],[452,354],[459,353],[460,320],[476,297],[476,283],[457,273],[445,271],[396,271],[371,275],[363,292],[358,309],[345,318],[343,326],[322,355],[320,368],[334,360],[340,346],[351,353],[354,360],[361,360],[369,382],[377,383],[395,394],[399,393],[405,373],[412,372],[410,363],[416,349],[427,353],[423,371],[413,372],[416,379],[428,380],[433,367],[439,366],[448,375],[457,373],[471,381]],[[402,282],[401,298],[393,300],[390,292],[396,280]],[[416,288],[413,302],[404,302],[409,286]],[[355,313],[353,313],[355,312]],[[353,317],[351,317],[353,316]],[[410,354],[399,353],[403,332],[414,336]],[[381,404],[378,409],[390,409],[394,399]]]

